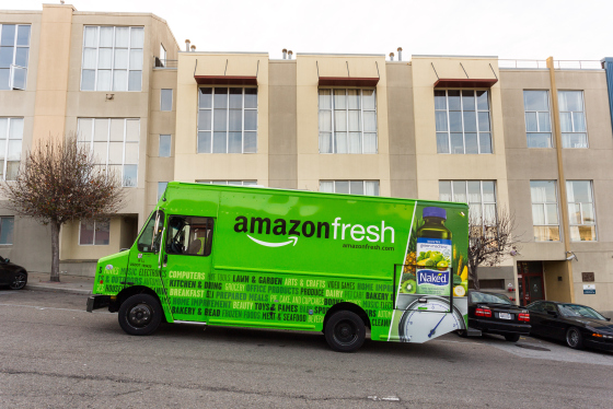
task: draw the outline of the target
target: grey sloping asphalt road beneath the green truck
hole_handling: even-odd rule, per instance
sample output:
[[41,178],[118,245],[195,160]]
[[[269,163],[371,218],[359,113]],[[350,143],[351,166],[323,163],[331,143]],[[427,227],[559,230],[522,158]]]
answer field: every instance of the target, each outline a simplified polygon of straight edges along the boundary
[[1,408],[611,407],[613,354],[447,335],[332,352],[321,334],[163,325],[130,337],[85,296],[0,290]]

